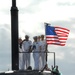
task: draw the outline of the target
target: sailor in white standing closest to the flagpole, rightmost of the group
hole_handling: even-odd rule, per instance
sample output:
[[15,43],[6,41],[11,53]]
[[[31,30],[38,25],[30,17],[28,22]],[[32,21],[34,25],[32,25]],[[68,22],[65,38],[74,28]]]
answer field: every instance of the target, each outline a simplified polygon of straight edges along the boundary
[[45,67],[46,63],[46,52],[47,51],[47,44],[46,40],[44,39],[44,35],[41,35],[41,62],[42,62],[42,69]]

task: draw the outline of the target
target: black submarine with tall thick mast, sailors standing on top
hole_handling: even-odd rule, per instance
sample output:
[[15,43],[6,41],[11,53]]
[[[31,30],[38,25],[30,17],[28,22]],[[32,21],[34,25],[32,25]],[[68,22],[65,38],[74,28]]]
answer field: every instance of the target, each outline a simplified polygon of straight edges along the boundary
[[[18,8],[16,0],[12,0],[11,6],[11,59],[12,70],[1,72],[0,75],[55,75],[51,71],[19,70],[19,47],[18,47]],[[55,56],[55,53],[54,53]],[[54,57],[55,66],[55,57]]]

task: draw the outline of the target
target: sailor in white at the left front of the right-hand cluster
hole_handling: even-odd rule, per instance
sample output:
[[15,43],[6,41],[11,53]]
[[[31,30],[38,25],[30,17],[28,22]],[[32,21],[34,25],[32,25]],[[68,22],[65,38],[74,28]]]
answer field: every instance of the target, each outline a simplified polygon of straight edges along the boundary
[[41,45],[37,41],[37,36],[33,37],[33,58],[34,58],[34,70],[39,70],[39,52],[41,50]]

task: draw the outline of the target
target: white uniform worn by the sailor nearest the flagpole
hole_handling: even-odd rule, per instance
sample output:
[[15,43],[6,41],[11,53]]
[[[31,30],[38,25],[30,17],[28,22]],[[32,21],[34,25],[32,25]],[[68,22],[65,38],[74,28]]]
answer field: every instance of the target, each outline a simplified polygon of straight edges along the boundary
[[46,53],[44,53],[46,50],[46,41],[43,40],[41,41],[41,63],[42,63],[42,68],[46,65]]

